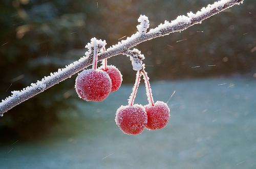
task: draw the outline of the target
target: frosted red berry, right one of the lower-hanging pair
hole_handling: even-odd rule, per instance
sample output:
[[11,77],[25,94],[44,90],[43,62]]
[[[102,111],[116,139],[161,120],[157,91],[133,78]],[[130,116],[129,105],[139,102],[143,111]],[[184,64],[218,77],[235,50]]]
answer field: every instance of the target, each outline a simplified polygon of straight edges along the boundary
[[168,105],[162,101],[157,101],[154,106],[147,104],[144,106],[147,114],[146,128],[156,130],[164,128],[170,117]]

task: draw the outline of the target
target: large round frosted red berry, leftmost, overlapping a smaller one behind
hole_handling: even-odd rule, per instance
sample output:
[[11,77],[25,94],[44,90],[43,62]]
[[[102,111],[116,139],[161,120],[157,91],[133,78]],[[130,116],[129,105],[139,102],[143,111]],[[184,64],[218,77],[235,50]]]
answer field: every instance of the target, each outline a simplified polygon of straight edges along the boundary
[[102,70],[83,70],[76,78],[76,93],[86,101],[105,100],[109,96],[111,88],[111,78]]

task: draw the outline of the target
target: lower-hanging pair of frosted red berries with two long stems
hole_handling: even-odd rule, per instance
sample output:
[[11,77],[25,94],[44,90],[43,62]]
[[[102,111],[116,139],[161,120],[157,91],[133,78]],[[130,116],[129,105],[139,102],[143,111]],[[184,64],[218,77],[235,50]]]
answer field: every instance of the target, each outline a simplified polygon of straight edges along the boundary
[[[148,104],[133,104],[139,86],[140,76],[143,73],[146,85]],[[154,103],[148,76],[144,70],[138,71],[129,105],[120,106],[116,112],[116,124],[126,134],[140,134],[145,128],[156,130],[164,128],[169,121],[170,109],[162,101]]]

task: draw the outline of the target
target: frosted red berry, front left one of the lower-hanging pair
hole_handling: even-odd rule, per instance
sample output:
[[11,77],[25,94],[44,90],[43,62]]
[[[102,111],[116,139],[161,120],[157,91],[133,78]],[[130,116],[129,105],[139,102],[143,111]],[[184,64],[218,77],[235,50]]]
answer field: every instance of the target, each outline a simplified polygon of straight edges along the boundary
[[146,111],[140,104],[121,105],[116,111],[115,121],[125,134],[140,134],[147,123]]

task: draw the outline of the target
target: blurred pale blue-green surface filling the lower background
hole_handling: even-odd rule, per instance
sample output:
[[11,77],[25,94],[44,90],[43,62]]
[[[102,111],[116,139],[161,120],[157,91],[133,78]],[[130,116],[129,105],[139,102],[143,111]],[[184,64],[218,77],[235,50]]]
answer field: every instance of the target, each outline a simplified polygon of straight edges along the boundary
[[[115,112],[131,85],[102,102],[76,102],[41,139],[0,145],[0,168],[255,168],[256,81],[208,78],[152,83],[171,110],[164,129],[126,135]],[[141,83],[135,103],[146,104]]]

